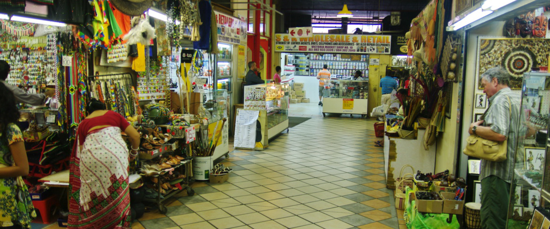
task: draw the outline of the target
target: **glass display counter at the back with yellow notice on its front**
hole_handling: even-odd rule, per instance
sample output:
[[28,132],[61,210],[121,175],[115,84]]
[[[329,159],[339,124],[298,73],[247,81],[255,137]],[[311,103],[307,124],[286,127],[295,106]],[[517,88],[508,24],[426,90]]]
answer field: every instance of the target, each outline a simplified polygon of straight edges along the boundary
[[331,80],[323,90],[326,113],[368,114],[368,80]]

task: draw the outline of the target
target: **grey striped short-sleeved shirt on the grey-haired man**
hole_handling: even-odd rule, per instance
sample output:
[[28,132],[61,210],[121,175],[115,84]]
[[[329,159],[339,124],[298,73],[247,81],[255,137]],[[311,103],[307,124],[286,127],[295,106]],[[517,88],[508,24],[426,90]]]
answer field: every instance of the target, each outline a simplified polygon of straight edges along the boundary
[[[511,102],[511,117],[508,103],[510,97]],[[480,181],[483,178],[494,175],[502,180],[511,183],[514,177],[514,156],[516,143],[519,136],[519,117],[521,98],[518,94],[513,93],[510,88],[503,88],[489,98],[491,104],[485,113],[483,126],[491,127],[491,130],[504,135],[508,139],[507,159],[500,162],[481,160]],[[519,153],[518,155],[521,155]]]

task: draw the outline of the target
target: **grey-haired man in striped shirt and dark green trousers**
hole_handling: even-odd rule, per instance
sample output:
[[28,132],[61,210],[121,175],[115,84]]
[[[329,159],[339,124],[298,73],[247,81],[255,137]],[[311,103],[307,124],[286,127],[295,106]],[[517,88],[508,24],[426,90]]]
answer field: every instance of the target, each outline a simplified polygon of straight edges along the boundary
[[480,120],[470,124],[469,133],[498,142],[508,139],[507,160],[481,160],[481,228],[506,228],[521,98],[510,90],[510,76],[500,67],[487,70],[480,78],[489,107]]

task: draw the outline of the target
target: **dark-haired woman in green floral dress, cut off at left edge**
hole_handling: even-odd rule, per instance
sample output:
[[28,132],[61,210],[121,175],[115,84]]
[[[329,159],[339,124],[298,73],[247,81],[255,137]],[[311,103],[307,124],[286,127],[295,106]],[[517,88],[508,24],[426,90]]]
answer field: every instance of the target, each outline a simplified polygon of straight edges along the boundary
[[0,228],[28,228],[36,213],[23,178],[29,161],[23,136],[14,123],[19,119],[13,93],[0,83]]

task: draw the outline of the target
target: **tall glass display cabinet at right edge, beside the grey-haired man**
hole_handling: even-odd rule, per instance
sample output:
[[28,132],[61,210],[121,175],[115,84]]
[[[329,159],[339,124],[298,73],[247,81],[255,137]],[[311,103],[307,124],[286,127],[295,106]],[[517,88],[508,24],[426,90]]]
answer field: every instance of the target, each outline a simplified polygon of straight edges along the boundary
[[535,206],[550,202],[550,159],[548,113],[550,111],[550,74],[530,72],[524,75],[518,146],[514,178],[510,191],[508,228],[525,228]]

